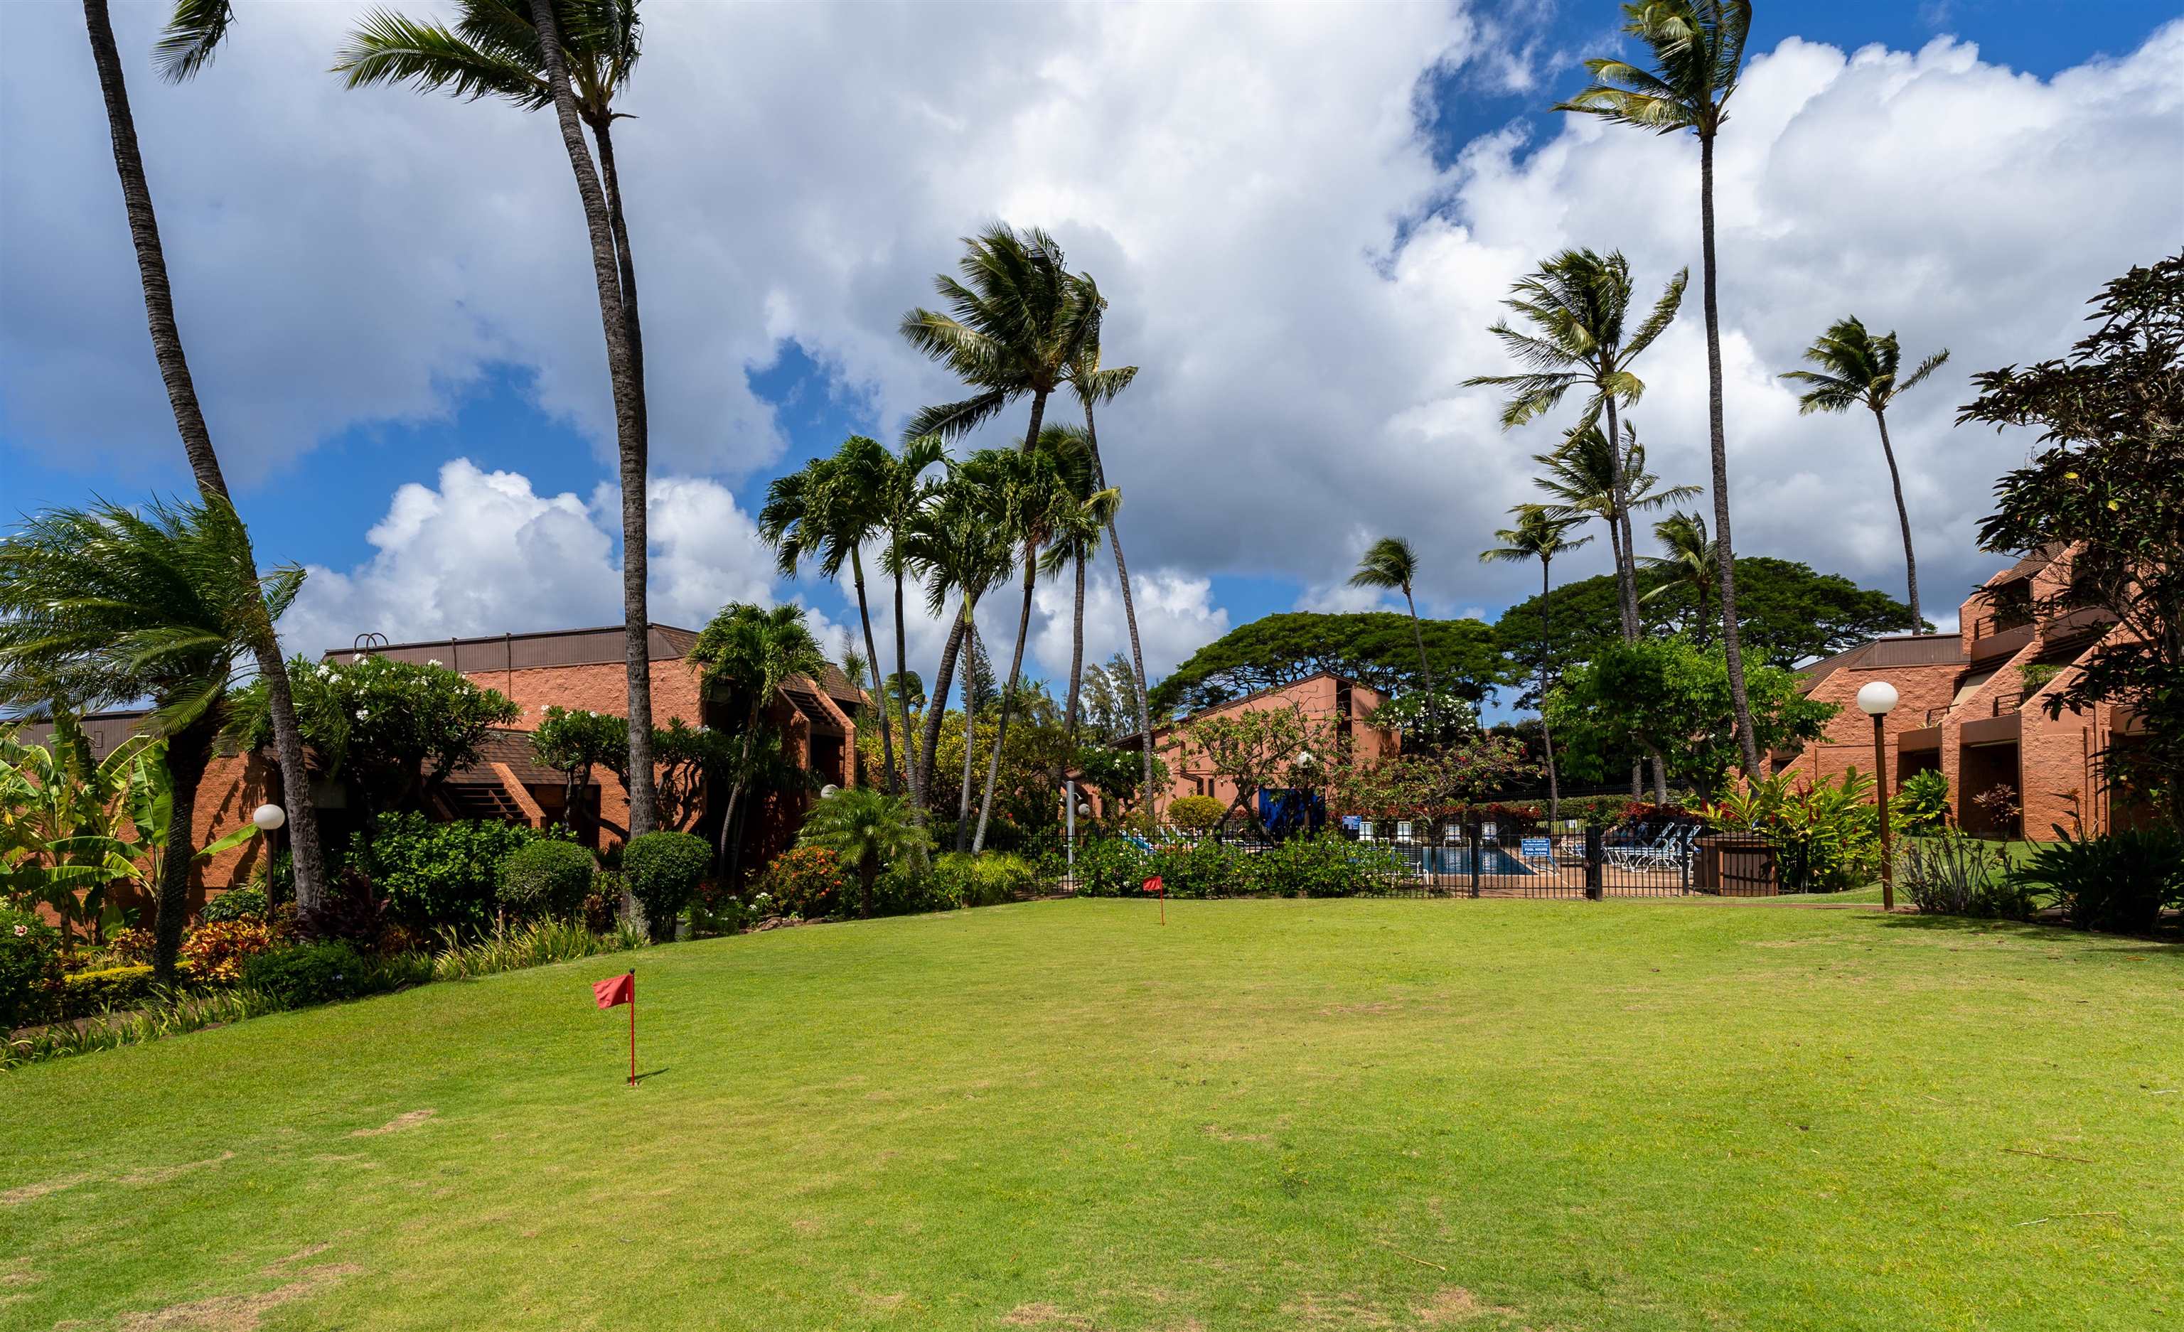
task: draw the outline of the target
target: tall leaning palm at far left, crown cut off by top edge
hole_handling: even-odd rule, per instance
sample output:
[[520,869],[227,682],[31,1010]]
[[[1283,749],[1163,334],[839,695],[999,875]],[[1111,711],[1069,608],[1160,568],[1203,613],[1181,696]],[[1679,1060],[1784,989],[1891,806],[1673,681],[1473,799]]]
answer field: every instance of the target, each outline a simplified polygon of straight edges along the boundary
[[[232,20],[229,0],[177,0],[173,20],[162,35],[153,63],[170,81],[192,76],[212,59]],[[144,321],[151,330],[153,360],[166,384],[166,400],[181,435],[181,452],[190,459],[197,493],[212,504],[229,502],[221,456],[212,430],[197,402],[190,358],[175,323],[175,293],[166,280],[166,249],[159,245],[159,214],[153,210],[151,183],[144,179],[144,155],[138,148],[135,114],[129,109],[129,85],[122,79],[120,50],[114,44],[114,22],[107,0],[83,0],[83,26],[92,41],[92,63],[98,68],[98,90],[107,103],[107,131],[114,140],[114,170],[122,186],[122,210],[129,214],[129,240],[135,247],[138,282],[144,288]],[[249,531],[242,533],[245,544]],[[251,627],[251,657],[266,681],[273,716],[273,751],[280,758],[282,799],[288,804],[288,854],[295,865],[297,908],[314,911],[323,895],[325,863],[319,852],[319,821],[310,806],[310,773],[304,766],[304,732],[295,721],[295,694],[288,666],[280,655],[273,620]]]

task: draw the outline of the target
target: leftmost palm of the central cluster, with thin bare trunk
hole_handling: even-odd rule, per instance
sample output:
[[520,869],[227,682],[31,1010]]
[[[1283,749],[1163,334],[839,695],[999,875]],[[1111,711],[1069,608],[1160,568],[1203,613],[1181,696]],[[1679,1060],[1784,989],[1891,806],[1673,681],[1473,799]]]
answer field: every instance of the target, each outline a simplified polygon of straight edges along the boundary
[[[865,627],[865,662],[874,683],[880,677],[880,649],[871,638],[871,605],[865,600],[865,542],[885,531],[880,513],[882,489],[895,456],[878,439],[852,435],[832,456],[812,459],[802,472],[775,476],[767,502],[758,509],[758,535],[773,544],[782,576],[793,579],[804,559],[819,559],[819,572],[841,581],[843,561],[856,587],[856,618]],[[887,690],[874,690],[880,707],[880,762],[887,766],[887,790],[895,790],[895,732],[887,714]]]

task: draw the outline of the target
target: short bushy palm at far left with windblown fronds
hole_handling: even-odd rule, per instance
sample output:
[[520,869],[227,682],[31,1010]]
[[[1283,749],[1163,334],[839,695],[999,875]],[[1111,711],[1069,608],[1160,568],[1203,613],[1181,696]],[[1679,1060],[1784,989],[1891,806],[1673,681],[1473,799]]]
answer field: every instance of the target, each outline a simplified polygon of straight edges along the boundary
[[[234,504],[57,509],[0,539],[0,703],[149,699],[173,793],[159,863],[153,970],[175,980],[190,915],[197,784],[260,625],[288,609],[304,570],[260,574]],[[151,828],[138,830],[151,834]]]

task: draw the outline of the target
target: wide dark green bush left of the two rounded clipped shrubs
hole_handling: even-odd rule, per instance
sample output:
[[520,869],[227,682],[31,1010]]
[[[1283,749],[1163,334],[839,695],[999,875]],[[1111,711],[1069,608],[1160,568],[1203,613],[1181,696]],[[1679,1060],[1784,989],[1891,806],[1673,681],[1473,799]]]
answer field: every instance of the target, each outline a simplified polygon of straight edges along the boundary
[[365,871],[395,921],[415,930],[480,928],[494,917],[502,863],[537,836],[500,819],[380,814],[369,843],[349,843],[347,860]]

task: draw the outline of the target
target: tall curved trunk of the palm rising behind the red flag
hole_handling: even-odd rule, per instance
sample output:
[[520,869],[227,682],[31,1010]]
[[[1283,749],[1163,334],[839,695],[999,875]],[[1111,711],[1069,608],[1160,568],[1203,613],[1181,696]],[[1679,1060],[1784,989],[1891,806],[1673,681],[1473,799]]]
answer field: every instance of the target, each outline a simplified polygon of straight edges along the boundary
[[[531,0],[531,24],[539,37],[539,59],[546,66],[546,87],[553,92],[555,118],[561,124],[561,146],[577,175],[577,197],[592,238],[592,282],[598,288],[598,325],[607,341],[607,380],[614,389],[614,435],[622,480],[622,653],[629,668],[629,836],[642,836],[657,825],[653,808],[653,666],[651,618],[644,605],[646,581],[646,513],[644,474],[649,448],[644,441],[642,371],[631,358],[629,328],[636,319],[636,288],[622,288],[622,260],[616,253],[614,218],[607,194],[583,142],[583,120],[568,85],[561,59],[561,33],[550,0]],[[633,280],[633,269],[631,269]]]

